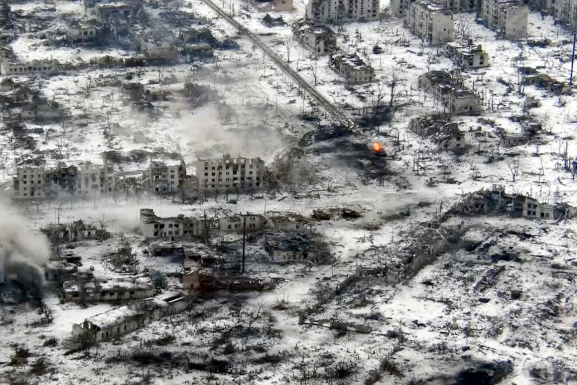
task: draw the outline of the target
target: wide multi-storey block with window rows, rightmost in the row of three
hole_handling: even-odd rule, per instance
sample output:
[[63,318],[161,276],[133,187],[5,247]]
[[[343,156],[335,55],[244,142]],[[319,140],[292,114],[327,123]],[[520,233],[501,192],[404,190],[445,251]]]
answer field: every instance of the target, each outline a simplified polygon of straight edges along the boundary
[[264,187],[265,168],[261,158],[198,159],[196,178],[201,191],[251,191]]

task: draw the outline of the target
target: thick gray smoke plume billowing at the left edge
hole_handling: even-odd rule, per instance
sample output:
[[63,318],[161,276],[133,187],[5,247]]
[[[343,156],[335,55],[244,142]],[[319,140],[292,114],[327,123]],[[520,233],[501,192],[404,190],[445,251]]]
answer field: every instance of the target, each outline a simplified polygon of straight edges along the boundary
[[27,220],[0,202],[0,244],[5,251],[5,273],[23,291],[40,296],[50,244],[42,233],[33,233]]

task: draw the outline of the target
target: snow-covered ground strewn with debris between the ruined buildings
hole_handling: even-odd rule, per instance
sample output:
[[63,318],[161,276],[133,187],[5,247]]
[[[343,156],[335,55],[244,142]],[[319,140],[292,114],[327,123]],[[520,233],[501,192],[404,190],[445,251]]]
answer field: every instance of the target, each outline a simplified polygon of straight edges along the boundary
[[[237,36],[234,28],[215,18],[200,0],[186,3],[191,7],[182,7],[179,12],[209,18],[217,39]],[[386,275],[366,274],[356,277],[338,295],[323,296],[334,293],[355,271],[378,270],[397,261],[403,247],[418,241],[417,229],[463,194],[481,187],[505,184],[508,191],[539,201],[577,206],[575,181],[563,168],[565,146],[569,162],[577,152],[575,95],[554,96],[526,86],[525,96],[541,100],[541,107],[529,113],[542,124],[543,131],[529,144],[514,148],[500,145],[497,136],[497,127],[508,133],[520,132],[520,123],[509,119],[523,115],[524,96],[516,90],[516,59],[522,57],[524,66],[540,68],[542,73],[567,82],[572,36],[554,26],[551,17],[531,12],[529,39],[552,41],[549,47],[531,48],[524,41],[497,39],[494,32],[475,23],[473,14],[455,16],[456,25],[465,26],[474,43],[489,53],[491,63],[486,69],[463,73],[465,84],[484,95],[485,103],[480,116],[453,118],[466,132],[469,144],[469,151],[457,156],[437,151],[431,141],[408,128],[411,118],[443,112],[442,106],[418,89],[417,77],[428,70],[451,70],[453,65],[437,48],[422,46],[402,20],[385,14],[377,22],[343,26],[338,46],[344,52],[358,52],[370,62],[378,80],[351,87],[328,67],[326,56],[314,58],[296,41],[288,41],[290,25],[304,17],[304,1],[295,2],[293,12],[279,14],[286,25],[274,28],[265,27],[261,20],[264,14],[248,3],[219,3],[353,117],[379,98],[388,103],[389,81],[399,77],[394,100],[398,108],[392,121],[364,131],[368,152],[371,141],[379,141],[387,153],[394,154],[387,160],[387,173],[383,171],[383,179],[367,180],[366,163],[359,167],[356,159],[343,160],[346,149],[329,143],[327,151],[320,149],[322,144],[315,144],[307,155],[310,171],[316,176],[314,182],[295,188],[294,193],[261,194],[261,199],[241,195],[236,205],[227,204],[223,196],[185,205],[179,199],[173,202],[147,194],[65,202],[58,208],[54,202],[11,202],[9,186],[17,165],[38,156],[44,156],[46,165],[54,165],[59,161],[102,163],[106,151],[125,156],[145,152],[140,160],[115,164],[118,172],[138,175],[145,172],[151,157],[167,160],[177,153],[187,172],[194,174],[198,157],[223,153],[258,156],[270,165],[302,135],[332,124],[330,116],[318,111],[313,99],[302,95],[302,90],[249,41],[235,40],[238,50],[215,50],[215,61],[200,65],[201,70],[190,63],[100,69],[86,63],[106,55],[129,58],[135,52],[118,47],[44,44],[46,38],[40,32],[48,36],[65,33],[69,17],[80,17],[84,7],[77,2],[57,2],[55,11],[36,13],[50,19],[50,27],[12,41],[14,54],[23,61],[54,58],[77,68],[46,78],[14,78],[18,84],[38,89],[46,99],[57,101],[66,111],[67,122],[27,122],[27,129],[44,130],[44,134],[31,134],[36,144],[33,148],[18,145],[9,130],[2,131],[2,205],[6,215],[23,216],[33,232],[54,223],[57,211],[62,223],[79,219],[102,222],[113,237],[77,242],[70,250],[83,258],[80,271],[92,271],[97,278],[122,275],[112,271],[103,256],[125,241],[136,253],[141,269],[179,271],[177,263],[145,254],[147,244],[138,229],[139,210],[144,207],[154,209],[159,216],[290,212],[309,219],[315,210],[338,212],[349,207],[361,217],[347,219],[337,213],[330,220],[310,220],[310,228],[329,245],[334,259],[331,265],[279,266],[249,255],[248,273],[263,280],[275,278],[272,289],[198,298],[180,315],[153,322],[118,341],[94,346],[88,357],[84,352],[65,355],[62,341],[69,337],[73,323],[112,305],[83,308],[59,303],[58,288],[51,284],[44,296],[53,311],[52,323],[40,324],[43,316],[33,304],[2,304],[0,383],[577,382],[573,288],[577,263],[572,256],[577,241],[575,220],[553,223],[492,216],[451,217],[441,228],[462,230],[462,243],[410,280],[394,284]],[[42,4],[11,5],[12,12],[24,14],[36,12],[38,6]],[[381,4],[383,9],[385,6]],[[153,20],[162,22],[160,12],[165,7],[145,8]],[[372,54],[375,45],[383,48],[383,53]],[[176,82],[163,82],[172,75]],[[117,79],[119,84],[104,84],[107,78]],[[499,78],[513,89],[508,92]],[[142,100],[134,100],[123,89],[122,85],[134,82],[144,85],[144,95],[158,96],[150,99],[152,112],[139,110],[137,102]],[[234,118],[220,119],[214,103],[191,105],[183,96],[185,82],[218,89],[222,101],[233,108]],[[17,115],[20,110],[4,113]],[[306,114],[319,119],[302,119]],[[487,123],[490,120],[494,124]],[[132,132],[143,131],[149,141],[137,143],[132,135],[110,134],[110,127],[116,124]],[[515,163],[519,171],[513,177]],[[448,180],[451,183],[445,183]],[[170,289],[179,285],[177,279],[168,281]],[[314,311],[299,324],[299,313],[307,308]],[[330,322],[367,329],[331,329]],[[22,348],[28,349],[29,356],[15,360],[18,354],[25,355],[17,353]],[[491,379],[484,378],[483,373],[490,373]]]

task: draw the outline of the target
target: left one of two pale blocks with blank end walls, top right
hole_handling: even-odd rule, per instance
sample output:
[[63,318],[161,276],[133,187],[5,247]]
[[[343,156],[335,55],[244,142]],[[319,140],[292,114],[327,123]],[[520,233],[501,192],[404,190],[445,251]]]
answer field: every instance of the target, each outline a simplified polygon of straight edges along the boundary
[[452,12],[427,1],[411,2],[409,11],[404,14],[404,24],[411,32],[433,46],[453,40]]

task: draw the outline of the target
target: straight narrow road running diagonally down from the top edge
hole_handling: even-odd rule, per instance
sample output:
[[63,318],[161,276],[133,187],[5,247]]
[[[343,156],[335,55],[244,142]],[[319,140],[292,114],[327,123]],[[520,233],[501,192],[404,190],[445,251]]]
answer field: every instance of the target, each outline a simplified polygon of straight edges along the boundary
[[293,79],[299,86],[306,90],[310,96],[312,96],[321,107],[324,108],[329,114],[333,116],[335,120],[343,124],[343,126],[353,129],[357,126],[353,122],[353,119],[346,112],[342,111],[342,108],[333,105],[326,97],[324,97],[319,91],[317,91],[314,86],[310,85],[302,76],[300,76],[297,71],[293,70],[279,55],[271,50],[266,44],[263,43],[254,33],[250,32],[248,29],[243,27],[238,21],[234,20],[230,15],[224,12],[218,5],[216,5],[212,0],[203,0],[209,7],[218,13],[224,20],[230,23],[234,28],[237,29],[241,36],[246,37],[252,41],[258,48],[263,50],[265,55],[267,55],[275,64],[285,73],[288,77]]

